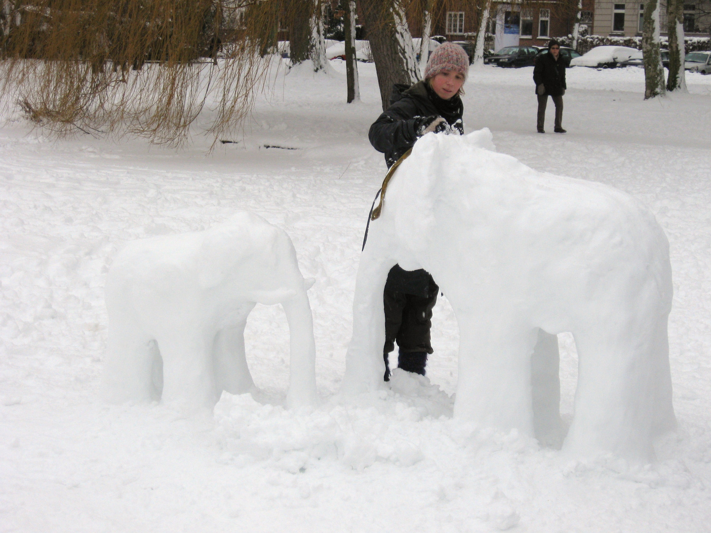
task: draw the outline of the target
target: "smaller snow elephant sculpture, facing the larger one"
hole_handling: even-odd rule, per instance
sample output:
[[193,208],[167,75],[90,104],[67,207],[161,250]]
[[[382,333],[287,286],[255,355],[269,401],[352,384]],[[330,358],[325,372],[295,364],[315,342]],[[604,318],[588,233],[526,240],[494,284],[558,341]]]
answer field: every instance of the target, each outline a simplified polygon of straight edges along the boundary
[[[244,330],[256,303],[281,303],[291,335],[287,405],[316,399],[314,330],[291,239],[242,212],[205,230],[129,242],[107,277],[109,400],[161,397],[212,407],[254,387]],[[162,368],[162,371],[161,371]]]

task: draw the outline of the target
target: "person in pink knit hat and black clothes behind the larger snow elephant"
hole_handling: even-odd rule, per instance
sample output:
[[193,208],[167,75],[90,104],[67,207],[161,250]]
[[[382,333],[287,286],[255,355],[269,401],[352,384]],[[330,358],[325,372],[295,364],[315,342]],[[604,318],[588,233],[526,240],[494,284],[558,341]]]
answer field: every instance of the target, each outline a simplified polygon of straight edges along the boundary
[[[390,107],[370,126],[373,148],[385,154],[388,168],[412,148],[419,137],[434,132],[462,135],[464,106],[459,95],[469,71],[469,56],[454,43],[439,45],[429,56],[424,81],[411,87],[394,85]],[[406,271],[395,265],[387,275],[385,305],[385,381],[390,379],[387,355],[400,348],[397,366],[424,375],[433,352],[429,329],[439,286],[424,269]]]

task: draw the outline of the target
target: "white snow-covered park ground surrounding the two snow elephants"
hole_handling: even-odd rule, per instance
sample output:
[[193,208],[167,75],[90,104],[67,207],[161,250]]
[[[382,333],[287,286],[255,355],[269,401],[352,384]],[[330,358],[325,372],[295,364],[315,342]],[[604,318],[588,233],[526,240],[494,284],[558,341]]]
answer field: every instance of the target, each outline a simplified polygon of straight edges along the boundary
[[[444,297],[429,380],[397,372],[377,393],[335,397],[385,161],[367,139],[380,112],[373,65],[359,63],[363,102],[349,105],[344,65],[331,63],[330,75],[282,72],[245,134],[212,154],[202,136],[176,153],[2,126],[0,532],[711,530],[711,77],[688,73],[689,95],[643,102],[641,69],[572,68],[565,136],[535,133],[532,68],[472,70],[465,86],[466,131],[486,126],[533,168],[635,195],[668,235],[679,428],[656,463],[635,466],[452,421],[458,334]],[[255,399],[225,395],[198,418],[104,404],[103,287],[117,249],[237,209],[284,228],[316,279],[323,404],[280,407],[289,334],[282,310],[264,306],[245,333]],[[570,420],[577,358],[570,335],[560,345]]]

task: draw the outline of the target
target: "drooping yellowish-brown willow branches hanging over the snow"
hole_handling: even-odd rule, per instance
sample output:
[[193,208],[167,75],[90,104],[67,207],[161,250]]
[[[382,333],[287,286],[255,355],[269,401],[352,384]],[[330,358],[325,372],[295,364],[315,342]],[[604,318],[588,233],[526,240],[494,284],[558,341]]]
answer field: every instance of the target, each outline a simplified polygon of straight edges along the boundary
[[0,21],[6,106],[55,134],[177,146],[206,105],[217,140],[264,87],[281,0],[13,0]]

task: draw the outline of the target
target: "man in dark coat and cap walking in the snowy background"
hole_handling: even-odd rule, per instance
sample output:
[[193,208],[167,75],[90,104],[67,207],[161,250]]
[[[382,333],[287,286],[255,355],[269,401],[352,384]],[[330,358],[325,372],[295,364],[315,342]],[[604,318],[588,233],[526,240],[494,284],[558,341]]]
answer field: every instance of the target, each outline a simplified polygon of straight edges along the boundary
[[545,107],[548,97],[555,104],[555,133],[565,133],[563,120],[563,95],[565,95],[565,58],[560,55],[560,44],[555,39],[548,42],[548,53],[540,55],[533,68],[535,92],[538,95],[538,133],[545,133]]

